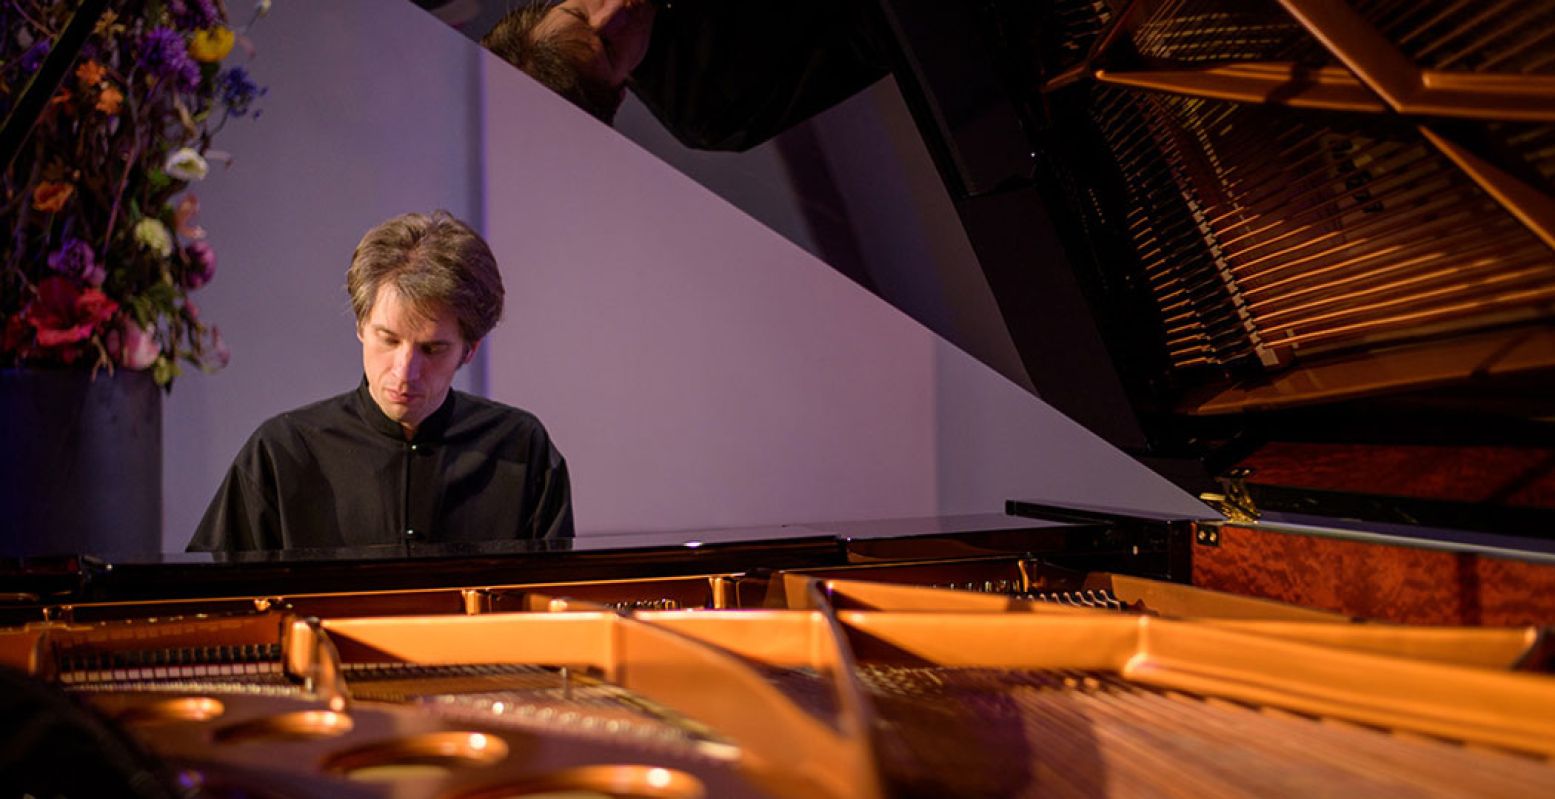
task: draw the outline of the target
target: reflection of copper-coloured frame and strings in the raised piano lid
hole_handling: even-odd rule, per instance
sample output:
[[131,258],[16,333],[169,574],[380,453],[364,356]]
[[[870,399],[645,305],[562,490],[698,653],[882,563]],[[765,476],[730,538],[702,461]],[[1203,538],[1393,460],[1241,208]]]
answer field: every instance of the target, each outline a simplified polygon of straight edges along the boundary
[[1149,320],[1158,401],[1555,367],[1549,3],[1057,2],[1037,26],[1045,163],[1092,284]]

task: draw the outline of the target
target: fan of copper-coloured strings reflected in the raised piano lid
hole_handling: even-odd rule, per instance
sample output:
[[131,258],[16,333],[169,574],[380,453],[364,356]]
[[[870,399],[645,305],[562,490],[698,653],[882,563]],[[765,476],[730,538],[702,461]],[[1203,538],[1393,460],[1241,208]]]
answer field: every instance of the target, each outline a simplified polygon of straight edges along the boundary
[[[1555,298],[1549,249],[1409,129],[1127,90],[1099,90],[1093,115],[1130,176],[1179,368],[1286,365],[1269,353],[1502,323]],[[1269,129],[1284,134],[1255,135]]]

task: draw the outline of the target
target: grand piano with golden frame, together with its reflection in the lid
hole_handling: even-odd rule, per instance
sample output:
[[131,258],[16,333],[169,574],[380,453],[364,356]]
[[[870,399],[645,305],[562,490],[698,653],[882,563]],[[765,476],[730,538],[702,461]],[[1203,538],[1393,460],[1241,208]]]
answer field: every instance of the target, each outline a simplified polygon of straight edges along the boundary
[[1012,496],[543,546],[19,560],[0,661],[47,734],[6,740],[6,777],[1552,793],[1555,12],[880,12],[1036,390],[1202,518]]

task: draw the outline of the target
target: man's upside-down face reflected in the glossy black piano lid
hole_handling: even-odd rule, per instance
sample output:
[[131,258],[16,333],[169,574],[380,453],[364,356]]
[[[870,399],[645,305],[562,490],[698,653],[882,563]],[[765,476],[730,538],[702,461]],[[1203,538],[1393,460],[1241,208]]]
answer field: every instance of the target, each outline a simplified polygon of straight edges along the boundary
[[583,72],[605,85],[622,89],[648,51],[653,14],[648,0],[564,0],[535,25],[535,36],[560,36],[585,44]]

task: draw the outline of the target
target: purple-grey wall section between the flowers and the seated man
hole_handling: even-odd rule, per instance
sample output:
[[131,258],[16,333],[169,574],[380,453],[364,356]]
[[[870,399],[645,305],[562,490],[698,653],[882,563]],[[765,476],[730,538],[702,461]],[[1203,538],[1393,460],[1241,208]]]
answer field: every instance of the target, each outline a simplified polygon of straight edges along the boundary
[[188,543],[264,418],[361,379],[344,286],[362,233],[412,210],[480,215],[468,40],[412,3],[381,0],[278,2],[252,39],[252,73],[269,85],[263,115],[227,124],[216,148],[233,154],[232,166],[193,190],[218,253],[216,280],[196,302],[221,326],[232,364],[185,375],[168,396],[169,550]]

